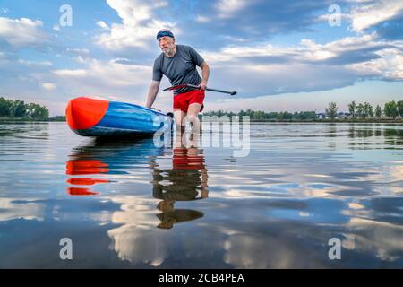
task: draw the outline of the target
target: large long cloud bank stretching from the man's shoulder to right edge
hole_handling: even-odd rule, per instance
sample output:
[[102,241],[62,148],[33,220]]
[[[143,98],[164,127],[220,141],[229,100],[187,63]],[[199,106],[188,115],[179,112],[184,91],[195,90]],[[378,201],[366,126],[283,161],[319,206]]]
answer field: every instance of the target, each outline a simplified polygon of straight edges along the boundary
[[[376,34],[347,37],[327,44],[303,39],[300,45],[231,46],[201,51],[216,83],[228,80],[250,96],[341,88],[359,79],[403,80],[402,41],[386,42]],[[236,85],[236,86],[234,86]]]

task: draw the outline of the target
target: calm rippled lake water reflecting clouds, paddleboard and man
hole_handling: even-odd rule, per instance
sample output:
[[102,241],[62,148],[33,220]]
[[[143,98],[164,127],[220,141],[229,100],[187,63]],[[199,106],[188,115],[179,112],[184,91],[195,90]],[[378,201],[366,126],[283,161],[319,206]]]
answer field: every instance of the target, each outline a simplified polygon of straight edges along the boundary
[[402,125],[252,124],[235,157],[2,124],[0,267],[402,268],[402,179]]

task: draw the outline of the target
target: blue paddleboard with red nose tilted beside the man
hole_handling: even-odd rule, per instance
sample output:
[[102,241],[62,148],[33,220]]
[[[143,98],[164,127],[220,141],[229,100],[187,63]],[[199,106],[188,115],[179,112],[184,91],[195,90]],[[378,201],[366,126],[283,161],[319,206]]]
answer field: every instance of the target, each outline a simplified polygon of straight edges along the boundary
[[70,100],[65,115],[73,132],[84,136],[150,135],[172,124],[155,109],[90,97]]

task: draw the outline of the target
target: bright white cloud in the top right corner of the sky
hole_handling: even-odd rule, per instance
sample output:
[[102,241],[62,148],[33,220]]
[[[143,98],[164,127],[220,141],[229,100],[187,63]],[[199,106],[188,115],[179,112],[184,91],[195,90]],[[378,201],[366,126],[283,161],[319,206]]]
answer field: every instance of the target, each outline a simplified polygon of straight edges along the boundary
[[351,11],[352,30],[359,32],[376,24],[391,20],[403,13],[403,1],[380,0],[378,2],[359,1]]

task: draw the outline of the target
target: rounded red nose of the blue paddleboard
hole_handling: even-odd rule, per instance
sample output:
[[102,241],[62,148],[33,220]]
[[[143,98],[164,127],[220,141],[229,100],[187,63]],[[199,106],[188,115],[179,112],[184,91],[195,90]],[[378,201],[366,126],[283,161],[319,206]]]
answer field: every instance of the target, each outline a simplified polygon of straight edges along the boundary
[[81,97],[70,100],[65,117],[71,129],[87,129],[99,123],[107,112],[108,100]]

